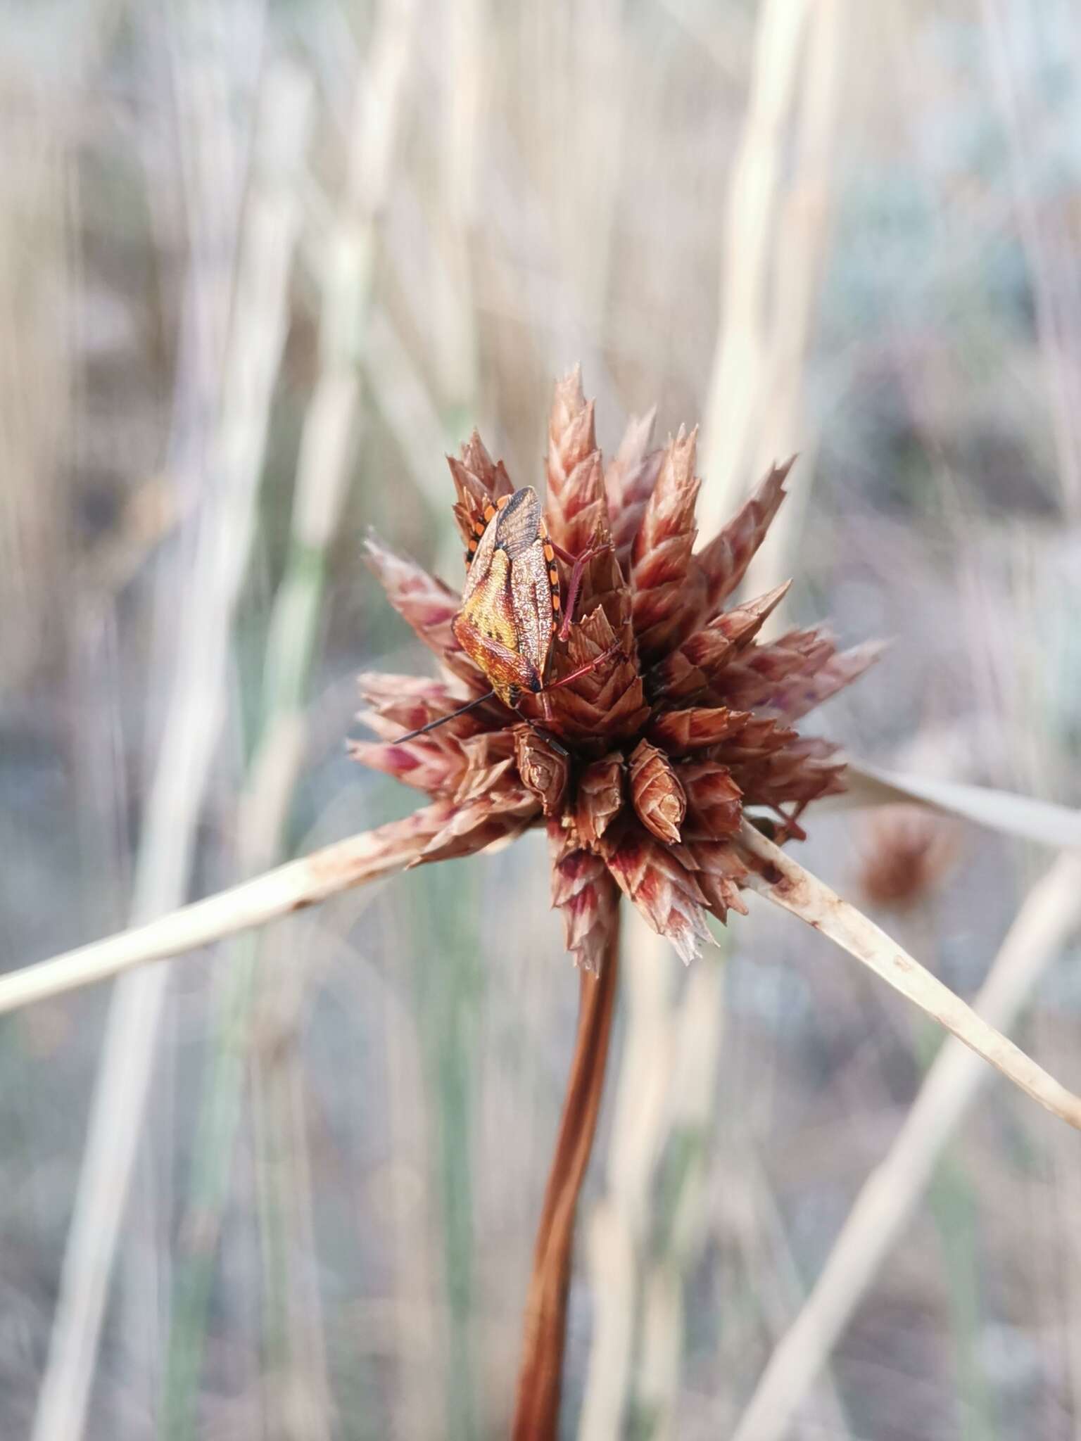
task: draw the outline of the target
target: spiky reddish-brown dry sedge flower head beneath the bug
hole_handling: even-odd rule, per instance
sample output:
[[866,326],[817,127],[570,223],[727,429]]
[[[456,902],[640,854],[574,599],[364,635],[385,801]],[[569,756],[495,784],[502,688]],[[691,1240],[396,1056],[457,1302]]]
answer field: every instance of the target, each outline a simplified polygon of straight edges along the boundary
[[[781,839],[842,788],[836,748],[793,723],[855,680],[878,647],[837,651],[814,630],[761,641],[786,586],[742,605],[731,597],[784,499],[775,465],[725,529],[696,549],[696,432],[657,450],[653,418],[631,421],[605,467],[578,370],[559,380],[548,427],[546,522],[556,552],[587,562],[566,641],[556,641],[543,695],[517,710],[489,699],[438,729],[398,741],[483,696],[489,680],[451,621],[460,595],[369,540],[391,604],[440,659],[445,680],[368,674],[363,719],[376,741],[365,765],[427,791],[415,865],[463,856],[546,826],[552,902],[566,945],[595,970],[620,892],[685,961],[709,940],[705,916],[744,911],[738,830],[744,807],[773,813]],[[450,460],[454,516],[468,545],[486,507],[515,486],[479,435]],[[553,562],[555,563],[555,562]],[[566,597],[568,569],[559,574]]]

